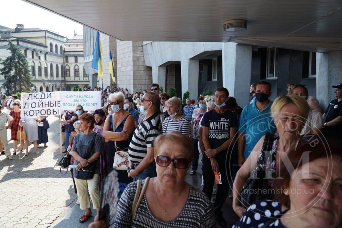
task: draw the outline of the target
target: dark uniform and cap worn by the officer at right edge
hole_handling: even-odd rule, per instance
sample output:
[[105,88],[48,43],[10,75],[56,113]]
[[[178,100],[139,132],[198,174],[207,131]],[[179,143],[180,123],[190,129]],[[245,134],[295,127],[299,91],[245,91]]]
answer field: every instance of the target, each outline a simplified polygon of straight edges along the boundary
[[[329,106],[324,113],[326,115],[324,118],[324,123],[342,116],[342,100],[340,102],[338,102],[338,99],[330,101]],[[335,126],[324,127],[323,133],[327,138],[342,139],[342,123]]]

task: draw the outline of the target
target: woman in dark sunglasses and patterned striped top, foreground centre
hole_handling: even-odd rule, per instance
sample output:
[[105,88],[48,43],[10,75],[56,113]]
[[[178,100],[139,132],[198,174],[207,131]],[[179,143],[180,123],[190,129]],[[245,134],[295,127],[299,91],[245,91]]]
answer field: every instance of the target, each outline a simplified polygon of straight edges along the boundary
[[[215,227],[209,198],[185,182],[194,159],[188,137],[179,132],[159,135],[154,142],[154,156],[157,177],[149,180],[135,216],[132,218],[131,208],[137,183],[133,182],[121,195],[111,227]],[[105,227],[105,222],[89,227]]]

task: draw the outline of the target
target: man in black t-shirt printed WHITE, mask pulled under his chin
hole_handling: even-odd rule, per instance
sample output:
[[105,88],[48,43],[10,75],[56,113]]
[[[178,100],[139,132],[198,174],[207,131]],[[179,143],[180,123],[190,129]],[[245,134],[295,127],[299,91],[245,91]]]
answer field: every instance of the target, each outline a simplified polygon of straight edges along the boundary
[[[222,206],[228,196],[229,182],[229,155],[231,142],[234,142],[237,117],[225,106],[229,92],[224,87],[215,89],[215,108],[203,115],[201,126],[203,128],[202,138],[205,147],[203,156],[203,192],[211,199],[215,172],[220,172],[222,184],[218,184],[214,213],[216,221],[220,226],[226,227],[226,221],[222,216]],[[228,175],[228,176],[227,176]]]

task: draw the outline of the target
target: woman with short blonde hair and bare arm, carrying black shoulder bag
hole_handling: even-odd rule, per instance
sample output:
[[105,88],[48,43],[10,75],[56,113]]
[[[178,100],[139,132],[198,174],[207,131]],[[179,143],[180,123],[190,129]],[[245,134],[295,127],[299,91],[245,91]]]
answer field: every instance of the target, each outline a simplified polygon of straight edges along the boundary
[[[264,182],[267,182],[265,185],[268,188],[272,188],[274,183],[274,179],[272,178],[275,178],[277,170],[276,164],[279,163],[278,159],[284,156],[284,153],[288,154],[297,147],[300,140],[300,133],[305,125],[309,111],[310,107],[307,102],[297,95],[281,95],[273,102],[271,114],[277,127],[277,133],[266,133],[259,140],[235,177],[233,184],[233,209],[240,217],[245,212],[245,208],[240,204],[240,191],[249,178],[250,173],[257,166],[261,170],[264,170],[265,173],[270,171],[267,174],[270,180],[265,180]],[[269,145],[270,151],[267,151],[267,147],[264,147],[263,144]],[[265,163],[258,163],[259,159],[260,161],[265,160]],[[267,189],[265,190],[268,192]],[[259,196],[255,193],[253,195],[264,199],[273,199],[274,197],[271,194]]]

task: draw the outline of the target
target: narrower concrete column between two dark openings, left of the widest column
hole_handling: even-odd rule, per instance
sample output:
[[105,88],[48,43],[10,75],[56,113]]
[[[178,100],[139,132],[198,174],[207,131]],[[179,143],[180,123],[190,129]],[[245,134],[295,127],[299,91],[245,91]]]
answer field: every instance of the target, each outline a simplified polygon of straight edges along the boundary
[[184,59],[181,61],[182,99],[186,91],[189,91],[190,99],[198,99],[198,69],[199,59]]

